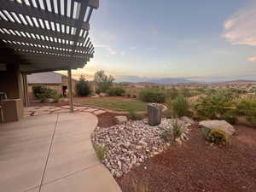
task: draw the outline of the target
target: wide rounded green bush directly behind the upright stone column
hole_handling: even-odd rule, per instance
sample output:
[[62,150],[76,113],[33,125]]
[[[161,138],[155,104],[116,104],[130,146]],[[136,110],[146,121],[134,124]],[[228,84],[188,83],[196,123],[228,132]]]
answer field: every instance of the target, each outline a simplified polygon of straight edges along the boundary
[[138,94],[143,102],[165,102],[166,95],[159,87],[145,87]]

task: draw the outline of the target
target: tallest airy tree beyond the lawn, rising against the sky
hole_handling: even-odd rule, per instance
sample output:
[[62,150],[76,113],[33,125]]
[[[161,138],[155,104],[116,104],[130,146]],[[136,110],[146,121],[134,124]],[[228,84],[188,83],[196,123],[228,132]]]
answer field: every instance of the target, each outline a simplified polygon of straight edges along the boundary
[[97,86],[97,92],[106,93],[113,84],[113,76],[105,74],[104,71],[97,71],[94,75],[94,82]]

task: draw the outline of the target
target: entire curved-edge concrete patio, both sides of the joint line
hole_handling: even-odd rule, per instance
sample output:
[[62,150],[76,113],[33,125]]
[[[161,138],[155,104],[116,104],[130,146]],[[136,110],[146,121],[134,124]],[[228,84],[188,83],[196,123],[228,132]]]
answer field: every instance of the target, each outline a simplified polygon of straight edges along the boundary
[[0,124],[0,192],[120,192],[96,158],[91,113],[55,113]]

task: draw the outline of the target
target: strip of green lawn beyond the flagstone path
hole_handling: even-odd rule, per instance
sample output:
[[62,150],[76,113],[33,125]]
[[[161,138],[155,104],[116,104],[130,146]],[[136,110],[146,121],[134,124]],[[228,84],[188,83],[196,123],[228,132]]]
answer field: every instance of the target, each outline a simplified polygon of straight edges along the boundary
[[77,104],[89,105],[99,108],[107,108],[118,112],[143,112],[146,110],[146,102],[138,100],[122,99],[122,98],[111,98],[111,97],[100,97],[100,98],[88,98],[84,101],[77,102]]

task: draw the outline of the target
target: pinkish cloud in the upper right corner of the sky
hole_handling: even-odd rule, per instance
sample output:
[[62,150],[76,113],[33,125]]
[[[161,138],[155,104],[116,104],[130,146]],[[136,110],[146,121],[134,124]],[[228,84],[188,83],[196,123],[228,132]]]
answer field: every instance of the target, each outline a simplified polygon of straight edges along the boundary
[[256,3],[226,20],[222,36],[231,44],[256,46]]

